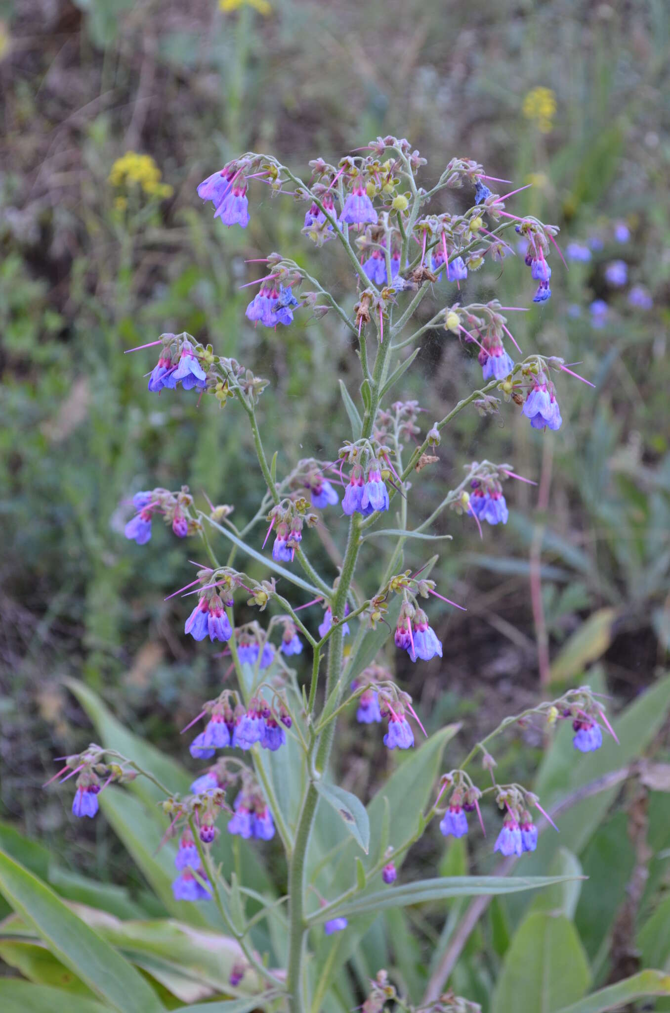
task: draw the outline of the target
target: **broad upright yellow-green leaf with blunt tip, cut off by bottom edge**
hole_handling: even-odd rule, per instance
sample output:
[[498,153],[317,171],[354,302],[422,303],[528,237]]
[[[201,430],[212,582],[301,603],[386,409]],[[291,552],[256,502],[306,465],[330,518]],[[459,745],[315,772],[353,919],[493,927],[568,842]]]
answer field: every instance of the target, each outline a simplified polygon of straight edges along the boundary
[[591,975],[577,930],[565,915],[532,912],[514,934],[505,955],[492,1013],[509,1013],[522,1000],[523,1013],[555,1013],[581,999]]

